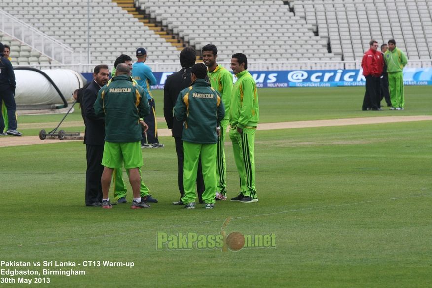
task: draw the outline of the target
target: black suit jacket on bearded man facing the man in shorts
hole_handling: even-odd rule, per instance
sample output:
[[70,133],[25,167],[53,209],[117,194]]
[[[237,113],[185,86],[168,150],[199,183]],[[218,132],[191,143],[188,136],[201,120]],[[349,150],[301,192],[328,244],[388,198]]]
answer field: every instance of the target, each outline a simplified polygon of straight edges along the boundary
[[99,85],[93,80],[84,90],[81,99],[85,115],[84,144],[87,145],[104,145],[105,121],[104,118],[96,117],[95,109],[93,108],[100,89]]

